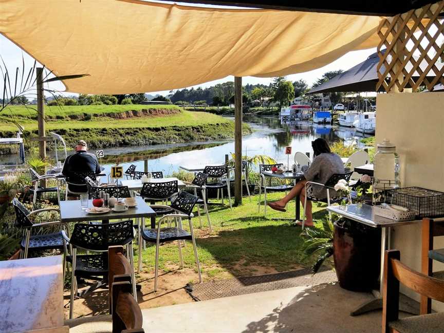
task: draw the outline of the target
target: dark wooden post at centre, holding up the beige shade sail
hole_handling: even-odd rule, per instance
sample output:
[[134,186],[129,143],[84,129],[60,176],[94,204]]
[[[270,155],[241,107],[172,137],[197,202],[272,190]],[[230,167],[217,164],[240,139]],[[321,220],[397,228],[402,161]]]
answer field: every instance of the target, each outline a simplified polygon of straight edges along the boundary
[[234,77],[234,202],[242,204],[242,78]]

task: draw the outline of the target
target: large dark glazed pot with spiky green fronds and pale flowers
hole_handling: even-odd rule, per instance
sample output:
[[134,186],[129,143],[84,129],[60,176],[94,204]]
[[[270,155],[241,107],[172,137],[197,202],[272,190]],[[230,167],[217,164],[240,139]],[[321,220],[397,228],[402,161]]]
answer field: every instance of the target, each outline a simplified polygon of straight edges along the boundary
[[[356,193],[353,193],[345,180],[340,180],[335,190],[342,192],[347,198],[345,201],[350,201],[351,197],[359,201],[370,187],[367,180],[361,177]],[[313,272],[316,273],[322,263],[333,255],[336,275],[342,288],[352,291],[371,290],[377,284],[380,271],[380,229],[335,214],[332,220],[327,216],[322,228],[306,228],[301,233],[304,253],[307,256],[317,255],[312,266]]]

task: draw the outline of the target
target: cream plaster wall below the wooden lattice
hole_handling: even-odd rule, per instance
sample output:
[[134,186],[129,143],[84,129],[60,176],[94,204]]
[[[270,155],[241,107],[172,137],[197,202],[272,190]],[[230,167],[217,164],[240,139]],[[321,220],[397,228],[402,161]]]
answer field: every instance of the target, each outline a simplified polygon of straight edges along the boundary
[[[419,186],[444,192],[444,93],[378,94],[376,143],[384,138],[396,144],[402,187]],[[391,248],[401,251],[401,261],[420,271],[420,224],[393,228]],[[435,248],[444,248],[444,236],[435,237]],[[434,262],[434,270],[444,265]],[[419,301],[417,294],[402,292]],[[444,303],[433,308],[444,311]]]

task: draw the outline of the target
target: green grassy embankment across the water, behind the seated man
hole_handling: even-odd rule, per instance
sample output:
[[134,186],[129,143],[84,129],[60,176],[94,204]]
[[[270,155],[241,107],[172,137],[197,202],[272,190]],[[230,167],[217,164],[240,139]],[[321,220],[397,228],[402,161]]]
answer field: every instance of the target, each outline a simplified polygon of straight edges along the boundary
[[[84,105],[45,108],[46,130],[61,134],[68,145],[79,138],[91,147],[111,147],[223,140],[234,136],[234,123],[217,115],[193,113],[175,105]],[[14,106],[0,114],[0,136],[38,132],[36,112]],[[250,133],[244,125],[244,133]]]

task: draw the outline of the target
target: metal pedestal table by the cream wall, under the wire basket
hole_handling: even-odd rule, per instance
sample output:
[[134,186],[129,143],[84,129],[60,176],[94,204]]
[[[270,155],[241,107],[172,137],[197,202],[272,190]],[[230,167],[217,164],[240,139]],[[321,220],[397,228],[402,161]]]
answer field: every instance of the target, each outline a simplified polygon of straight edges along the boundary
[[[396,221],[390,218],[375,215],[373,212],[373,206],[366,204],[354,204],[344,206],[328,206],[327,210],[331,213],[341,215],[351,220],[362,223],[366,226],[373,228],[381,228],[381,270],[380,270],[380,284],[379,290],[374,291],[375,299],[360,305],[356,310],[350,313],[351,316],[359,316],[362,313],[368,311],[378,310],[382,308],[382,288],[384,276],[384,253],[386,250],[390,250],[390,233],[391,227],[408,225],[418,223],[421,220],[411,221]],[[418,315],[417,309],[407,306],[403,303],[400,304],[400,310]]]

